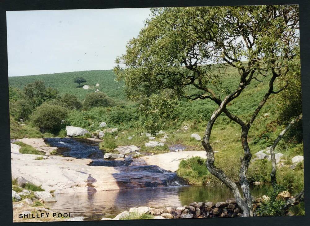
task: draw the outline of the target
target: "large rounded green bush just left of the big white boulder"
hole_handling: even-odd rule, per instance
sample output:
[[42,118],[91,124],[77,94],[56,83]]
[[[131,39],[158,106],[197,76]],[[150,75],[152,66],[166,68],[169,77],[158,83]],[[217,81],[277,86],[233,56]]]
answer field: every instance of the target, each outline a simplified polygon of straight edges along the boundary
[[35,109],[31,120],[42,133],[47,131],[57,133],[64,128],[64,120],[67,116],[68,113],[64,107],[44,103]]

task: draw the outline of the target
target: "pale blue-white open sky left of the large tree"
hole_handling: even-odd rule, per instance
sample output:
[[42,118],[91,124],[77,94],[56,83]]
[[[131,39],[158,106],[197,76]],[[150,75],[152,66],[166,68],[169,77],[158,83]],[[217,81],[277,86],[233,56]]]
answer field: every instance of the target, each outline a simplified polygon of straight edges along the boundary
[[148,8],[7,11],[8,75],[113,69]]

